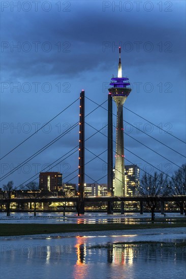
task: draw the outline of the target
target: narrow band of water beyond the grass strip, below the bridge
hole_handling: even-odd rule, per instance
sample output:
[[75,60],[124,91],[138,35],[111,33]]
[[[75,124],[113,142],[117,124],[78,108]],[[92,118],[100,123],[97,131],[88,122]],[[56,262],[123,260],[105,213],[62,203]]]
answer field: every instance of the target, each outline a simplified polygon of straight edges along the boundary
[[[0,213],[1,223],[40,223],[40,224],[60,224],[60,223],[84,223],[84,224],[96,224],[96,223],[126,223],[126,224],[140,224],[145,219],[150,219],[151,214],[139,213],[125,213],[125,215],[114,214],[108,215],[107,213],[85,213],[85,215],[77,216],[75,213],[67,213],[65,218],[63,213],[37,213],[34,217],[34,213],[11,213],[11,216],[7,217],[6,213]],[[166,218],[160,213],[156,213],[156,218],[162,220],[168,218],[185,218],[180,213],[167,213]],[[186,220],[186,218],[185,218]],[[174,220],[172,220],[174,222]]]

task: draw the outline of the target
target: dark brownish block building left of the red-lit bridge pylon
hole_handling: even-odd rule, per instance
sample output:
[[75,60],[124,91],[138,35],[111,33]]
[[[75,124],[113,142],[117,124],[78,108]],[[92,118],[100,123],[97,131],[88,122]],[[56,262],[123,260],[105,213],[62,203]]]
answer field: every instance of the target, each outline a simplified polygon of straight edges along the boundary
[[60,172],[40,172],[40,190],[58,191],[62,185],[62,173]]

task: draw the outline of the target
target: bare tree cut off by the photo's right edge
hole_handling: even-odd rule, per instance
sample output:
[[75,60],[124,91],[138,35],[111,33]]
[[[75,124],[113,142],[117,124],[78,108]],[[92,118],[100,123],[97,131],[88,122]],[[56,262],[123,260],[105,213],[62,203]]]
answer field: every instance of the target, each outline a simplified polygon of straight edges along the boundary
[[177,196],[177,206],[186,213],[186,164],[174,172],[169,189],[172,196]]

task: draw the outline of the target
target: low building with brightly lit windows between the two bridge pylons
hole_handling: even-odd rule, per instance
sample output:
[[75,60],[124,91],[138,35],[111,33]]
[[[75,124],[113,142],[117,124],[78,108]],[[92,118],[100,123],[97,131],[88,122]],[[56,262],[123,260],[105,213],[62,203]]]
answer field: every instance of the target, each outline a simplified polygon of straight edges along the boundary
[[107,184],[87,183],[84,186],[84,195],[86,197],[103,197],[107,196]]

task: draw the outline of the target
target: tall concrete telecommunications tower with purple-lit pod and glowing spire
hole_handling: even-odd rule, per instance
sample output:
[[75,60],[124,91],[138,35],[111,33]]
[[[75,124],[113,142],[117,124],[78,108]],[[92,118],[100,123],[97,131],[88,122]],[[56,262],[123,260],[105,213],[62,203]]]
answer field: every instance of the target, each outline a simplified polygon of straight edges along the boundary
[[116,151],[115,151],[115,196],[126,195],[125,185],[125,162],[124,162],[124,137],[123,137],[123,104],[131,92],[128,78],[122,77],[121,68],[121,48],[119,47],[119,63],[117,78],[112,78],[109,88],[109,94],[112,95],[117,106],[117,124],[116,124]]

